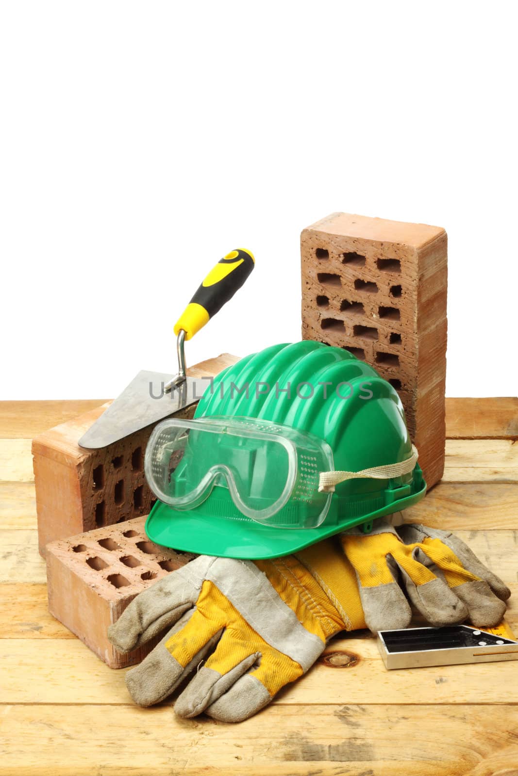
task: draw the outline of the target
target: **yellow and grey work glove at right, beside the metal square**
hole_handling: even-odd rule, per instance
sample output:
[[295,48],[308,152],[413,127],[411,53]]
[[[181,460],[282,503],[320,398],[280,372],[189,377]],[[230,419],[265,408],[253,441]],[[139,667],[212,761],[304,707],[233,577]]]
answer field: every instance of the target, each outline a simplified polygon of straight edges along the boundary
[[501,622],[509,588],[449,531],[380,520],[370,534],[353,528],[340,539],[371,631],[408,627],[408,599],[430,625]]

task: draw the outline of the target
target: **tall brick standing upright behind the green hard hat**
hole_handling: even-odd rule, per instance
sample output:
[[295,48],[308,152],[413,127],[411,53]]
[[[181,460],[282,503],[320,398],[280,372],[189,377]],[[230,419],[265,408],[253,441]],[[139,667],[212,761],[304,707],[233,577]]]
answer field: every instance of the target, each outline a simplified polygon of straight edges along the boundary
[[301,234],[302,336],[351,350],[388,379],[432,487],[444,468],[447,234],[332,213]]

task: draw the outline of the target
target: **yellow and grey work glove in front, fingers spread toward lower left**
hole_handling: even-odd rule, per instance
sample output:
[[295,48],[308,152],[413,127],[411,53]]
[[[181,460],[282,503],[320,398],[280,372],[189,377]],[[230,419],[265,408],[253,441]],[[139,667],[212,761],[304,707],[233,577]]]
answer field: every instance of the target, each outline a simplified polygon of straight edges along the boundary
[[193,674],[176,713],[238,722],[305,674],[331,636],[359,628],[353,568],[328,540],[255,563],[199,556],[138,595],[108,636],[128,652],[169,629],[126,674],[138,705],[164,700]]

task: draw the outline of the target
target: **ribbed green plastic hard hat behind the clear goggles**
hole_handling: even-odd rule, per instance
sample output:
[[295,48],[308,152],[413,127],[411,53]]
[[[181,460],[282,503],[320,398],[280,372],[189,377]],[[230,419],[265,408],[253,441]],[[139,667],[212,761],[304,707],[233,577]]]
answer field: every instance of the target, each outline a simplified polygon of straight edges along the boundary
[[[394,387],[344,348],[311,340],[273,345],[224,369],[203,394],[194,418],[253,418],[308,432],[328,443],[335,470],[362,472],[412,456]],[[210,457],[210,449],[199,454]],[[412,471],[391,479],[366,476],[337,484],[317,528],[279,528],[247,518],[224,481],[217,484],[187,510],[157,501],[146,522],[149,539],[205,555],[280,557],[355,525],[368,532],[374,518],[405,509],[426,493],[415,463]]]

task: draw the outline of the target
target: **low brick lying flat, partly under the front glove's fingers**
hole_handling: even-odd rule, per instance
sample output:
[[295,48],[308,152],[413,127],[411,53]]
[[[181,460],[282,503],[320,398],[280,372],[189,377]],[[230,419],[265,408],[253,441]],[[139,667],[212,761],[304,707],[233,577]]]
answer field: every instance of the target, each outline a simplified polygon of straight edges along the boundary
[[158,639],[123,655],[108,641],[108,625],[137,594],[193,558],[150,542],[144,523],[134,518],[47,546],[50,614],[110,668],[140,663]]

